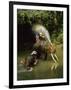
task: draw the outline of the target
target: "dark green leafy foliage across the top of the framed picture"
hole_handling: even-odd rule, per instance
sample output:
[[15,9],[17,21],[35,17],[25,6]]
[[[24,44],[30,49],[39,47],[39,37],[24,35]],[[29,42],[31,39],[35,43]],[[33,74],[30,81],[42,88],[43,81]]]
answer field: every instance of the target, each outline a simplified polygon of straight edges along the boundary
[[[46,10],[17,10],[17,21],[21,25],[42,24],[51,35],[51,39],[63,42],[63,12]],[[60,34],[60,35],[59,35]]]

